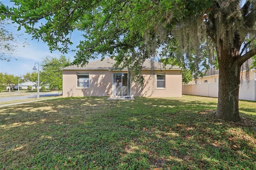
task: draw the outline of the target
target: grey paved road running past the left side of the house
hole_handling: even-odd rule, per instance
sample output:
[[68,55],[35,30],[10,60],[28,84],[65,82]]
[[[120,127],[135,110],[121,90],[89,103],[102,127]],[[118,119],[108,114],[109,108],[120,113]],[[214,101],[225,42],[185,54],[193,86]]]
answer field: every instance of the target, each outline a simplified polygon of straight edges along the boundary
[[[58,96],[61,95],[61,91],[54,91],[54,92],[43,92],[39,93],[40,97],[51,97],[51,96]],[[28,93],[26,96],[13,96],[13,97],[0,97],[0,102],[5,102],[5,101],[16,101],[16,100],[24,100],[24,99],[31,99],[31,98],[36,98],[37,93]]]

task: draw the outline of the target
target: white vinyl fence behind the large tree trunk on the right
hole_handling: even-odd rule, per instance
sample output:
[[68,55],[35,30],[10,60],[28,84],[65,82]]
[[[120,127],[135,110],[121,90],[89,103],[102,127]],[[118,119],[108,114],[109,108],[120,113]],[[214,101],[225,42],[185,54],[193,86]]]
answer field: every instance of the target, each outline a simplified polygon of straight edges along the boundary
[[[218,83],[182,85],[182,95],[218,97]],[[239,99],[256,101],[256,80],[240,84]]]

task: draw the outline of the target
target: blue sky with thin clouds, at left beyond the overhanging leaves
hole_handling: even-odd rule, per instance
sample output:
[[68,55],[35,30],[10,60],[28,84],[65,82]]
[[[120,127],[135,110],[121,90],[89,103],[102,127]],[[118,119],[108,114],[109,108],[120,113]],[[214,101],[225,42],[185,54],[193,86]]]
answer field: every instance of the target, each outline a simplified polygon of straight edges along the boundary
[[[2,3],[7,5],[9,8],[12,7],[12,2],[9,0],[2,0]],[[9,62],[0,60],[0,72],[17,76],[19,74],[24,75],[33,71],[32,68],[36,62],[40,64],[39,69],[41,70],[41,64],[44,57],[52,56],[58,58],[60,55],[62,55],[62,53],[59,51],[53,51],[50,53],[49,47],[46,43],[42,42],[42,40],[32,40],[32,36],[25,33],[24,28],[17,31],[17,26],[17,24],[10,24],[5,27],[13,34],[23,34],[17,38],[18,43],[16,45],[18,45],[18,47],[16,47],[14,54],[10,55],[11,57],[15,57],[17,60],[11,59]],[[74,49],[76,45],[78,45],[80,37],[80,32],[72,33],[71,41],[74,44],[70,47],[70,49]],[[25,44],[25,47],[23,47],[23,42],[25,41],[27,44]],[[70,58],[70,61],[73,61],[75,53],[69,52],[63,55],[65,55],[66,58]],[[36,64],[36,67],[38,67],[38,64]]]

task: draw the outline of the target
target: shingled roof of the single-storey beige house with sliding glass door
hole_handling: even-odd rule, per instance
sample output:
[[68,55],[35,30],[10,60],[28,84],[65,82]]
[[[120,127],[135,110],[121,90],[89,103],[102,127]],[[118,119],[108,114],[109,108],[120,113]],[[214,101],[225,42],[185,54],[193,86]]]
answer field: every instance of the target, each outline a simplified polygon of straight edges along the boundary
[[[164,67],[164,63],[156,62],[153,61],[154,69],[181,69],[181,67],[178,66],[172,66],[170,64],[167,64]],[[66,69],[108,69],[111,70],[113,69],[113,65],[116,63],[114,59],[111,58],[105,58],[102,61],[101,60],[95,60],[95,61],[90,61],[87,65],[80,67],[76,65],[71,65],[68,67],[62,68],[62,70]],[[152,64],[150,60],[145,60],[142,69],[152,69]],[[124,70],[127,70],[127,68],[124,68]]]

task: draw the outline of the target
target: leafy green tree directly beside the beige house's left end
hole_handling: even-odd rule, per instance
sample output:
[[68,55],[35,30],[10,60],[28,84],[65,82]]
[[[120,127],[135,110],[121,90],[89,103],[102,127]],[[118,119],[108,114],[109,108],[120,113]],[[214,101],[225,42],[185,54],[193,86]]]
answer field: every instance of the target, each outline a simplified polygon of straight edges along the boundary
[[70,60],[64,55],[60,58],[47,56],[43,59],[41,81],[48,85],[49,89],[62,90],[62,67],[70,65]]

